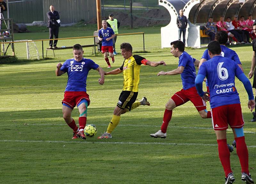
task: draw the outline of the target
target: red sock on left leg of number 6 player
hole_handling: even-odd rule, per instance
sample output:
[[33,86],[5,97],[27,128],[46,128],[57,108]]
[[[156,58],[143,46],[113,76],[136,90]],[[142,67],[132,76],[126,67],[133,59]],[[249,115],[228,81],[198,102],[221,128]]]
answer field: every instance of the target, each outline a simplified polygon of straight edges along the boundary
[[230,167],[230,153],[227,146],[227,139],[220,139],[220,140],[217,140],[217,142],[218,142],[220,162],[224,169],[225,176],[228,177],[228,174],[232,172],[232,170]]

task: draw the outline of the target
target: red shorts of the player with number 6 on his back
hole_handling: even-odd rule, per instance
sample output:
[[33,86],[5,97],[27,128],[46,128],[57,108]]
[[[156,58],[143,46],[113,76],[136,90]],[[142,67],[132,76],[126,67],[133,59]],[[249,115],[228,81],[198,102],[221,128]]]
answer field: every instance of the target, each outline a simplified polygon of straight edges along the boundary
[[240,103],[212,108],[211,112],[214,130],[227,130],[228,125],[231,128],[242,128],[244,126]]

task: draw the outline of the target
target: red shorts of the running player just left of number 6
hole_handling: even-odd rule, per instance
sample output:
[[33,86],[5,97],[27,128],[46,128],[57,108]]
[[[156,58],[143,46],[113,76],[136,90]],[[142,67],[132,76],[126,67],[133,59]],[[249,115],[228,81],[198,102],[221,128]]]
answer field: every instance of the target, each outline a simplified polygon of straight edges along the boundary
[[206,109],[205,101],[197,93],[196,87],[187,90],[182,89],[179,92],[174,93],[171,98],[175,102],[176,107],[191,101],[198,112]]

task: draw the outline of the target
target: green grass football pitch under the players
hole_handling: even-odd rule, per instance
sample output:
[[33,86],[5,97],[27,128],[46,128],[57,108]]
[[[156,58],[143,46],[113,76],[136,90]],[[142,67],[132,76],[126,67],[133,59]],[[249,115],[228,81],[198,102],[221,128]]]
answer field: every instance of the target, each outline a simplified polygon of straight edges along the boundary
[[[178,59],[169,49],[160,49],[160,27],[122,30],[125,31],[145,31],[149,52],[138,52],[142,44],[137,36],[120,36],[117,45],[131,42],[136,54],[151,61],[164,60],[167,66],[141,67],[138,100],[146,96],[151,105],[122,115],[113,139],[71,140],[72,130],[64,123],[61,106],[67,75],[55,76],[56,64],[72,58],[71,50],[60,50],[56,58],[49,55],[52,58],[48,60],[0,65],[0,183],[224,183],[211,119],[202,119],[191,102],[173,110],[166,139],[149,136],[160,129],[166,101],[182,88],[179,75],[156,74],[177,68]],[[87,36],[88,32],[80,30],[74,35],[67,30],[61,37]],[[48,32],[17,34],[15,40],[44,37],[48,37]],[[73,41],[58,45],[82,42]],[[238,53],[247,75],[251,68],[251,45],[232,49]],[[200,59],[204,49],[188,48],[186,51]],[[106,68],[100,54],[95,57],[86,52],[84,57],[94,60],[105,71],[123,63],[120,54],[115,56],[111,69]],[[87,124],[95,124],[100,135],[111,120],[122,91],[123,76],[106,76],[104,85],[98,84],[98,78],[97,71],[90,71],[87,78],[91,99]],[[252,113],[246,105],[248,97],[243,84],[236,80],[236,87],[246,123],[250,172],[256,180],[255,123],[249,122]],[[210,110],[209,103],[207,109]],[[78,124],[77,108],[72,116]],[[229,129],[227,134],[231,144],[233,133]],[[231,153],[230,159],[236,183],[242,183],[236,151]]]

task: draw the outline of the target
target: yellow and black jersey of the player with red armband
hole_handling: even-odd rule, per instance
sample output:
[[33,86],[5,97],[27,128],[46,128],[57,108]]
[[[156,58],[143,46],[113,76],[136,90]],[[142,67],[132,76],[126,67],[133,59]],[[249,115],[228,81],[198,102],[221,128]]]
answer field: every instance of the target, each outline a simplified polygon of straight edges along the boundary
[[142,60],[146,59],[139,55],[132,55],[127,60],[124,60],[123,65],[120,67],[120,70],[123,70],[124,76],[123,91],[139,91],[140,65]]

